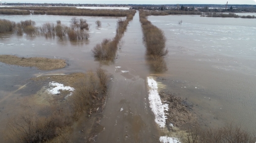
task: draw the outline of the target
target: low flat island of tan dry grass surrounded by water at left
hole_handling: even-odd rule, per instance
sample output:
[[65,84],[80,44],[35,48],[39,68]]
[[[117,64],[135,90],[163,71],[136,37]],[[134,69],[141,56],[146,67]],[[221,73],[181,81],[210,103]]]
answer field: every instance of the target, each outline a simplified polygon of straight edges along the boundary
[[24,58],[15,55],[0,55],[0,62],[24,67],[36,67],[39,70],[54,70],[66,67],[66,61],[63,59]]

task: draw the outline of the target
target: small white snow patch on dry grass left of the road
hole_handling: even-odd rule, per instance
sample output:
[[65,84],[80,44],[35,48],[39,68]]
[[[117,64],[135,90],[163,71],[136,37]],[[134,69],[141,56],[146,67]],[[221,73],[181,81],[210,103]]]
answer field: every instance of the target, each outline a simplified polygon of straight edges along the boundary
[[59,90],[74,91],[74,88],[73,88],[73,87],[64,86],[63,84],[58,83],[58,82],[55,82],[55,81],[49,82],[49,86],[50,86],[50,88],[47,89],[47,91],[48,91],[49,93],[52,93],[52,94],[61,93]]

